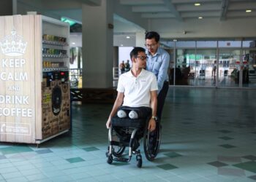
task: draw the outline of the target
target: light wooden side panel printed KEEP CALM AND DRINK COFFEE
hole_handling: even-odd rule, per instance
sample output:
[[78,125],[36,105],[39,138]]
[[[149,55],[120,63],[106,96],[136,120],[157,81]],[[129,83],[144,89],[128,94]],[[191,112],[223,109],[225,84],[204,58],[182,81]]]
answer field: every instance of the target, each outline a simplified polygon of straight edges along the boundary
[[[35,142],[34,16],[0,17],[0,141]],[[37,41],[39,42],[39,37]]]

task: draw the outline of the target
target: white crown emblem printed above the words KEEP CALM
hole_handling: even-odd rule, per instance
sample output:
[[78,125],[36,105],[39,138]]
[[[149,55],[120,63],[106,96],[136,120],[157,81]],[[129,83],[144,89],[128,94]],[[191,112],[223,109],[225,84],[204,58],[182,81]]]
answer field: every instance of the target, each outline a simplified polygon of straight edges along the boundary
[[28,42],[16,33],[15,30],[12,30],[11,35],[4,36],[4,39],[1,39],[0,47],[4,55],[19,56],[25,53]]

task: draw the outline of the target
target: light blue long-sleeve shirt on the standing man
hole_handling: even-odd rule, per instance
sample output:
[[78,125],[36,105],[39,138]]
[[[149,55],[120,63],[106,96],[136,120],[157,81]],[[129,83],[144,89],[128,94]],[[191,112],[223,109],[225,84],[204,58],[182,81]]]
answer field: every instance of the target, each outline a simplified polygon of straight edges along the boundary
[[161,47],[158,47],[157,52],[151,55],[148,51],[148,60],[146,70],[153,72],[157,76],[157,85],[159,93],[165,81],[168,81],[168,68],[170,63],[170,55]]

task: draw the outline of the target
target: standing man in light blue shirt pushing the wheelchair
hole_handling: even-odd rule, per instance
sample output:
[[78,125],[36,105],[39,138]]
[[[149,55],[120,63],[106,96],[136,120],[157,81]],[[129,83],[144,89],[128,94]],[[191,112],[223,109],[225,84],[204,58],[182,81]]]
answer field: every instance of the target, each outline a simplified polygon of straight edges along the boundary
[[157,76],[157,117],[161,120],[162,108],[164,107],[165,98],[169,88],[168,68],[170,55],[164,49],[159,47],[159,39],[159,33],[155,31],[146,33],[145,47],[146,54],[148,55],[146,70],[153,72]]

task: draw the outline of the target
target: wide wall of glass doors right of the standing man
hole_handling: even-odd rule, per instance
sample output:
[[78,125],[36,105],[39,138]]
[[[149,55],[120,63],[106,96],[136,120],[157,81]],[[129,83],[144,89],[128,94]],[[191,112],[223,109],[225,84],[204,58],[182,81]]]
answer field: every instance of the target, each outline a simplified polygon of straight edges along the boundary
[[170,47],[172,85],[256,87],[255,40],[173,41]]

